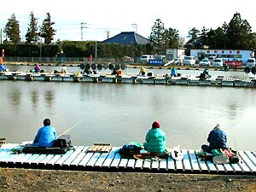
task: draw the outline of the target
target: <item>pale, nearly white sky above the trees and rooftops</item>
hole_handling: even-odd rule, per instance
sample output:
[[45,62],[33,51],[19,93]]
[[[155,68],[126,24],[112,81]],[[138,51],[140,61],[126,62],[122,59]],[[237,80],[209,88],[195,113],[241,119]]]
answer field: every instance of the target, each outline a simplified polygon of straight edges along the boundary
[[55,40],[83,38],[102,41],[108,33],[111,38],[119,32],[137,32],[148,38],[157,19],[166,28],[177,29],[180,36],[186,37],[193,27],[216,29],[224,21],[229,23],[236,12],[256,32],[256,11],[252,0],[0,0],[0,3],[0,27],[3,28],[15,14],[20,22],[22,40],[25,40],[31,12],[38,18],[38,26],[49,12],[55,22]]

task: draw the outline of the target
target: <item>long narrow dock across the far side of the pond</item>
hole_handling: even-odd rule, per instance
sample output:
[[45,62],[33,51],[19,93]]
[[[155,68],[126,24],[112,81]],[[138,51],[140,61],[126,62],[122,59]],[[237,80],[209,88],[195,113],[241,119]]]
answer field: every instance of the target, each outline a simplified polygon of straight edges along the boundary
[[108,75],[90,74],[76,76],[73,73],[0,73],[0,80],[12,81],[46,81],[46,82],[77,82],[77,83],[114,83],[114,84],[166,84],[166,85],[191,85],[191,86],[221,86],[221,87],[247,87],[256,88],[255,78],[217,78],[199,79],[196,77],[166,77],[159,76],[132,76],[132,75]]

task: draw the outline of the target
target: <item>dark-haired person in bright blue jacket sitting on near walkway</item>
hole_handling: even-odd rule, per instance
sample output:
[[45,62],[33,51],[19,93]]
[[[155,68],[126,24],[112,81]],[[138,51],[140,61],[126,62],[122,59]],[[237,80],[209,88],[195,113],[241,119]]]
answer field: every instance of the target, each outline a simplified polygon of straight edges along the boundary
[[44,119],[44,126],[38,130],[32,146],[35,147],[53,147],[57,139],[57,132],[54,127],[50,126],[50,120]]

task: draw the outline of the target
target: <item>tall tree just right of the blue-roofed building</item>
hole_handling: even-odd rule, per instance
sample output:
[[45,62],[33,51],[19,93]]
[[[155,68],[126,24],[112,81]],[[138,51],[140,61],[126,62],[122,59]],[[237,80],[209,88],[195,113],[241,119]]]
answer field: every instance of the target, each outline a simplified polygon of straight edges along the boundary
[[155,20],[154,26],[152,27],[152,32],[149,36],[149,41],[153,44],[154,49],[157,52],[163,50],[164,46],[164,33],[165,33],[165,26],[164,23],[160,19]]

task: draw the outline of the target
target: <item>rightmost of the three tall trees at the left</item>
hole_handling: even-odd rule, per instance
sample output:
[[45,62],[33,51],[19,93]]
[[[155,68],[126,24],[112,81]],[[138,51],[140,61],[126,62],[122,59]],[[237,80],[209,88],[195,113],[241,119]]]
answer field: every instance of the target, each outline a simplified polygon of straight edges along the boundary
[[49,13],[46,13],[46,19],[44,19],[42,26],[40,26],[39,36],[44,38],[44,44],[50,44],[54,39],[56,30],[53,29],[55,22],[51,21]]

